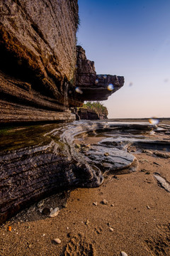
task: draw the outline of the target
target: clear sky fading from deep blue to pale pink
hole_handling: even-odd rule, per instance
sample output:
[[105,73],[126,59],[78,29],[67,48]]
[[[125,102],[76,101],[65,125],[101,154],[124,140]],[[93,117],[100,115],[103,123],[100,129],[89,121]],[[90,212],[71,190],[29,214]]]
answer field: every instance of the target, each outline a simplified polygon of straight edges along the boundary
[[78,0],[78,43],[97,74],[125,85],[103,104],[108,118],[170,117],[170,1]]

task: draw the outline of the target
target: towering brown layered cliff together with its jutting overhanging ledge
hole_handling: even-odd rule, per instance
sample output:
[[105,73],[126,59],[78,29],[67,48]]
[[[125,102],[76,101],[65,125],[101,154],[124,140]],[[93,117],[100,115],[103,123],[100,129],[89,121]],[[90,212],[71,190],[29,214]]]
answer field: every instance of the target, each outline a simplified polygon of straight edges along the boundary
[[77,0],[2,0],[0,13],[0,123],[75,119],[69,107],[123,86],[122,77],[96,75],[76,48]]

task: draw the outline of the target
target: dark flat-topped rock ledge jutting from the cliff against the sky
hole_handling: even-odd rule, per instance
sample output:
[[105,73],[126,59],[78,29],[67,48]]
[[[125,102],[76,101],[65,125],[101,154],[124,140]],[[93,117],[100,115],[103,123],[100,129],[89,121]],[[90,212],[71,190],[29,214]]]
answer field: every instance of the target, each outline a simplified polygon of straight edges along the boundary
[[94,61],[87,60],[85,50],[77,46],[77,79],[79,100],[107,100],[124,84],[117,75],[96,75]]

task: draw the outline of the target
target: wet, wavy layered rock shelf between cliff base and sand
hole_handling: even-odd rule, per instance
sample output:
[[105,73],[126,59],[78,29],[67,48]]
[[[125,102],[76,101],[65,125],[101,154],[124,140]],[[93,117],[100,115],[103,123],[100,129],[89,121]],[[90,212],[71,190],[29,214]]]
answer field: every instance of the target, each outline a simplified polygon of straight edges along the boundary
[[[154,141],[151,145],[147,137],[139,136],[153,128],[150,124],[88,121],[4,129],[0,141],[0,223],[42,196],[67,188],[100,186],[106,172],[135,171],[137,159],[130,154],[130,145],[153,146]],[[137,135],[132,137],[132,131]],[[106,137],[100,144],[84,144],[85,136],[98,137],[100,133]],[[164,141],[159,144],[164,146]]]

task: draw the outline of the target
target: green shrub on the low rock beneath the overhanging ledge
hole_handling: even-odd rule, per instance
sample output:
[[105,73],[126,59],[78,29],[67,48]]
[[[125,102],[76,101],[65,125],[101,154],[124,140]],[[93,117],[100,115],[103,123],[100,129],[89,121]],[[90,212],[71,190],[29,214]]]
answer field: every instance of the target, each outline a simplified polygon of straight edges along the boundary
[[84,108],[89,109],[89,110],[94,110],[98,114],[98,117],[100,119],[107,119],[108,118],[108,110],[107,107],[103,105],[102,102],[86,102],[83,105]]

